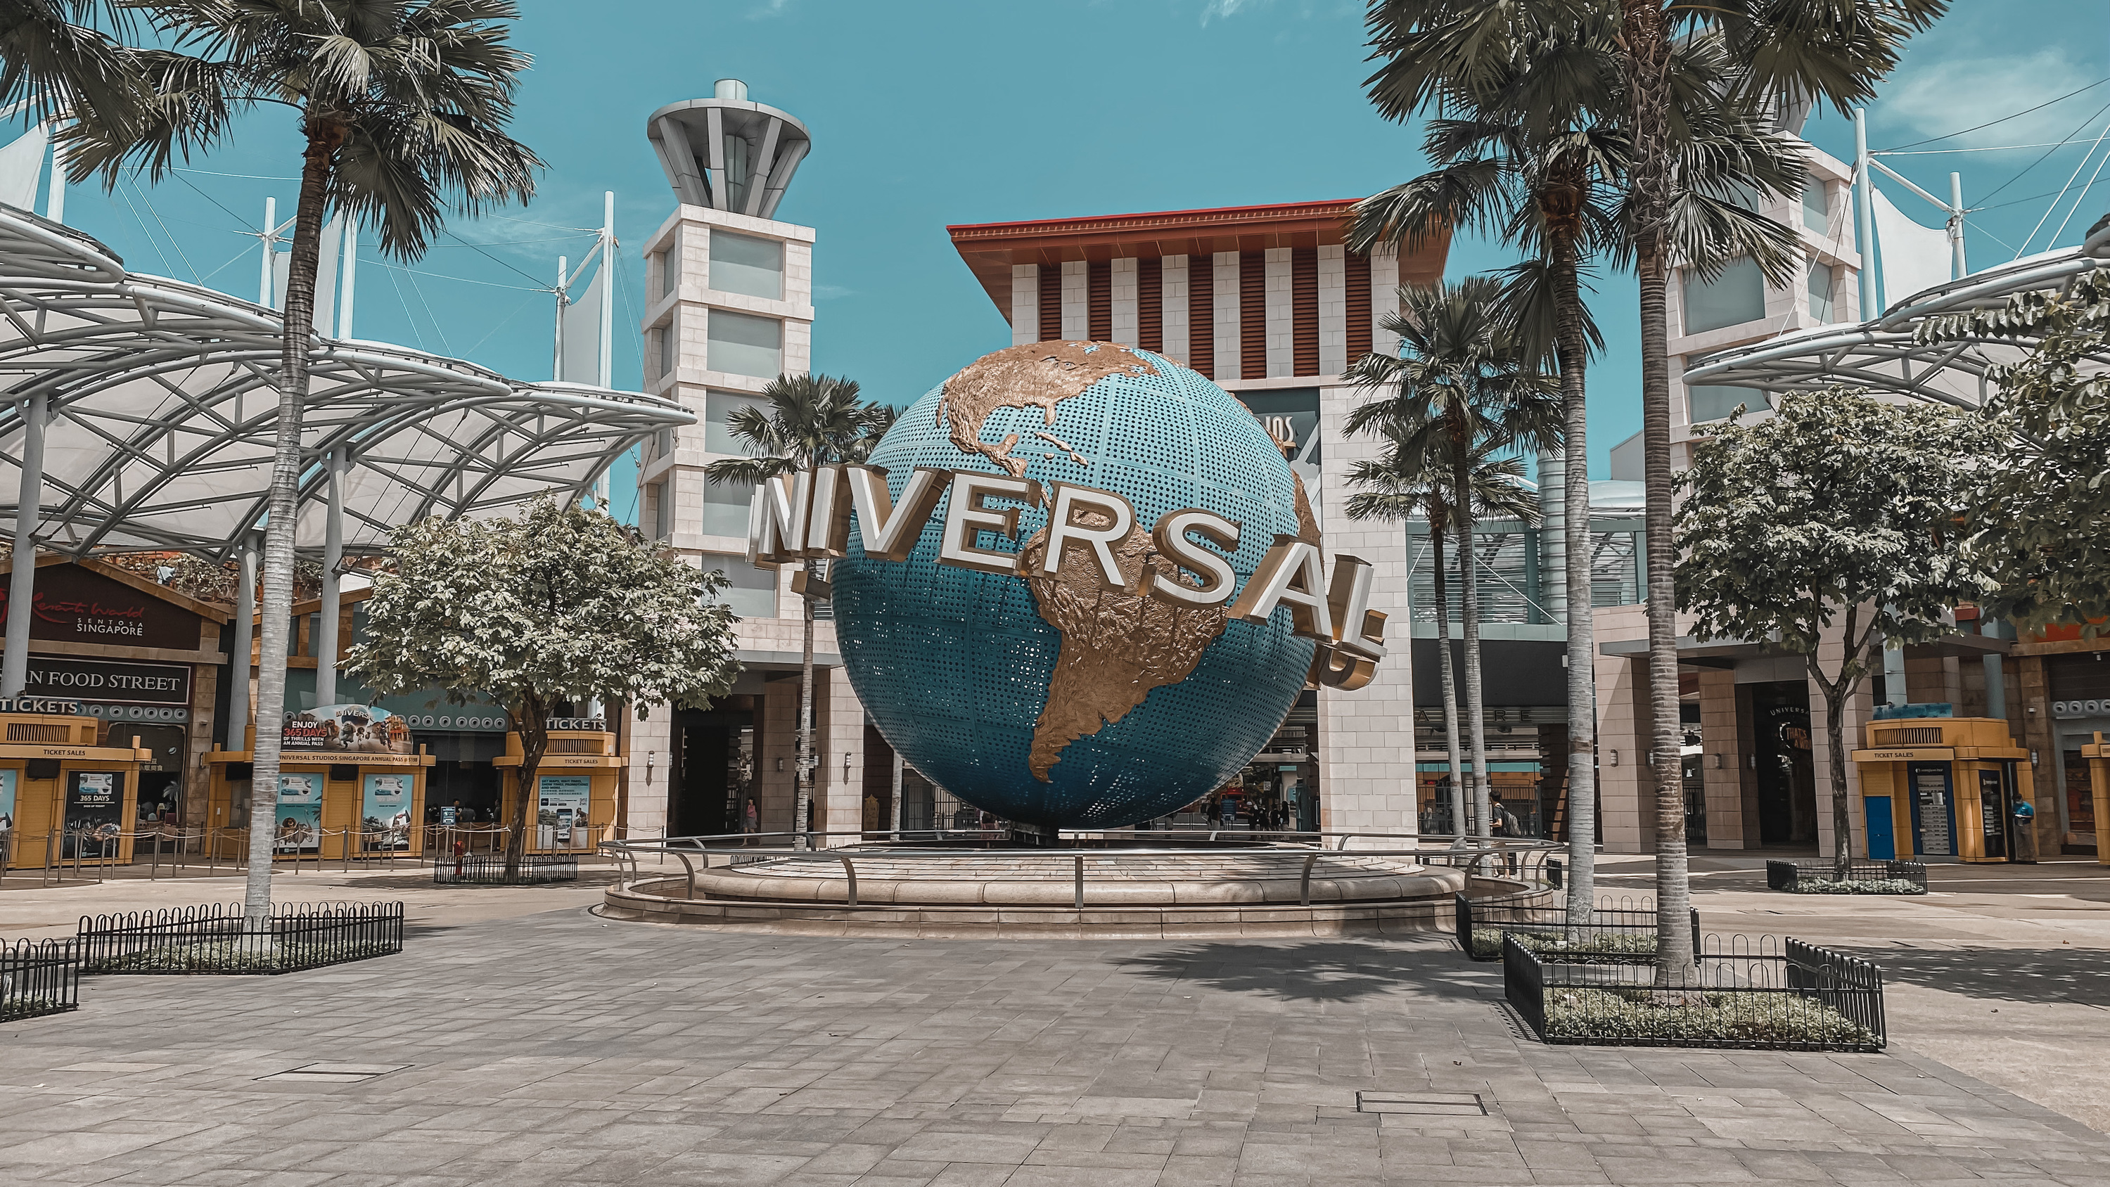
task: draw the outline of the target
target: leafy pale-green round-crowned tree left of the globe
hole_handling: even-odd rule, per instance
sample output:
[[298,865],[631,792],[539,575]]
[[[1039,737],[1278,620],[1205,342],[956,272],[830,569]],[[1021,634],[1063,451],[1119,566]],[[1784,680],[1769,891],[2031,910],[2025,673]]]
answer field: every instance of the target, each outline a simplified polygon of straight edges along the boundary
[[506,814],[506,877],[528,850],[528,805],[561,702],[705,706],[738,675],[722,573],[663,554],[599,510],[528,504],[517,519],[426,519],[390,533],[346,673],[384,696],[490,696],[521,736]]

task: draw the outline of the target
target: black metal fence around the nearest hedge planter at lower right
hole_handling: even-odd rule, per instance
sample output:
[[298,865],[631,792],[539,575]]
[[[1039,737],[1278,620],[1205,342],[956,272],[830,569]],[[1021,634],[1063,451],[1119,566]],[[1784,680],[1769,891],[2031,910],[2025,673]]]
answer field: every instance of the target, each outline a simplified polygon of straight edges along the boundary
[[[1713,938],[1713,936],[1709,936]],[[1882,972],[1863,959],[1787,940],[1699,955],[1684,985],[1650,964],[1545,959],[1502,940],[1502,993],[1549,1044],[1844,1050],[1888,1042]]]

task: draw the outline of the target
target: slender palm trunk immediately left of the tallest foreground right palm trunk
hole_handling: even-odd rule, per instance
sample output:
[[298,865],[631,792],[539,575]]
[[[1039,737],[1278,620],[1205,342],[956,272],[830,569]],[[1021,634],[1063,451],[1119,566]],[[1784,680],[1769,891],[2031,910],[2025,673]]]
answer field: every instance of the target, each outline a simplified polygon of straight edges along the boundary
[[1555,352],[1561,363],[1561,453],[1568,536],[1568,917],[1587,921],[1597,907],[1597,633],[1591,622],[1589,409],[1582,287],[1574,234],[1553,236]]

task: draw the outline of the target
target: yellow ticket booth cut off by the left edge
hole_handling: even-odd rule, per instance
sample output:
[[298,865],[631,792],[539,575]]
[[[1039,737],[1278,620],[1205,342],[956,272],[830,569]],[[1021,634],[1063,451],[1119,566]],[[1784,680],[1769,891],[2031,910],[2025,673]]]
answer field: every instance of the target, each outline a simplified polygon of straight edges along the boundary
[[129,862],[139,767],[154,753],[70,700],[0,700],[0,845],[11,869]]

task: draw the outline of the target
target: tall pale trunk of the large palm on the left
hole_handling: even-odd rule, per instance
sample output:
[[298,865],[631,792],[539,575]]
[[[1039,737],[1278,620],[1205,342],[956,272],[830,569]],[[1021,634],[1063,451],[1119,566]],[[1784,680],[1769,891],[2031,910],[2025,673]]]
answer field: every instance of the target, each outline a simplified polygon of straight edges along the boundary
[[257,732],[249,778],[249,879],[243,917],[249,928],[270,919],[272,833],[279,824],[279,746],[285,725],[285,658],[293,633],[293,527],[298,519],[302,409],[308,401],[308,333],[314,325],[314,268],[323,242],[329,171],[344,129],[306,124],[300,207],[293,213],[293,259],[285,285],[285,337],[279,354],[279,434],[270,470],[270,517],[264,521],[264,599],[257,645]]

